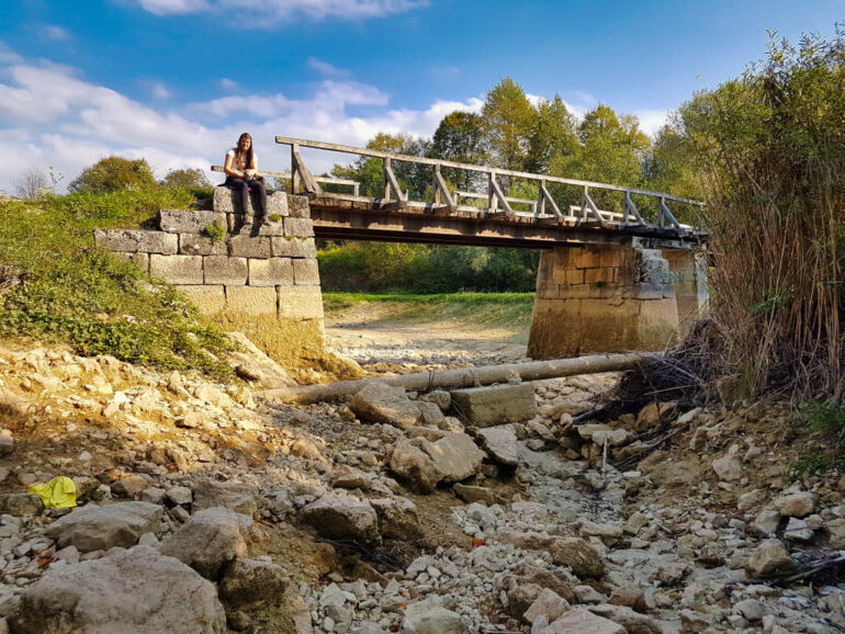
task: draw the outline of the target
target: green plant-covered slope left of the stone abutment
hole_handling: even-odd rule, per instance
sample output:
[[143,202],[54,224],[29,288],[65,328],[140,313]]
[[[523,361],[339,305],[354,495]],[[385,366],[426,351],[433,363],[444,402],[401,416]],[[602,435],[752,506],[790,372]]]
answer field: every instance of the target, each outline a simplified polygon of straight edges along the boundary
[[172,286],[94,248],[99,227],[138,227],[188,208],[187,189],[0,199],[0,336],[64,342],[160,370],[225,377],[228,343]]

